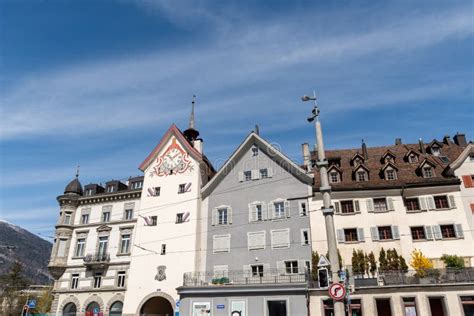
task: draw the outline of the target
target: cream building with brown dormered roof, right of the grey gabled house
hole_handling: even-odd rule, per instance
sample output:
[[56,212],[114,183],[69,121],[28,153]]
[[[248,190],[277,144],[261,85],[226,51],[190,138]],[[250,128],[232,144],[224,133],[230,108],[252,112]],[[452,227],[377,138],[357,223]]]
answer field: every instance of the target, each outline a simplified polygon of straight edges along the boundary
[[[472,145],[463,137],[407,145],[397,140],[393,146],[371,148],[363,143],[360,149],[326,151],[338,249],[343,266],[356,276],[350,279],[353,315],[463,315],[463,308],[472,312],[474,243],[465,200],[469,193],[463,193],[460,179],[450,171],[456,165],[463,175],[474,174],[466,154]],[[314,178],[312,245],[313,251],[326,254],[324,216],[318,211],[323,205],[319,175]],[[412,251],[421,250],[441,270],[429,280],[418,278],[410,266],[406,273],[381,271],[382,248],[395,249],[407,264]],[[373,274],[352,272],[354,250],[373,252]],[[457,274],[444,270],[444,254],[461,256],[467,269]],[[314,315],[331,315],[326,289],[316,286],[310,297]]]

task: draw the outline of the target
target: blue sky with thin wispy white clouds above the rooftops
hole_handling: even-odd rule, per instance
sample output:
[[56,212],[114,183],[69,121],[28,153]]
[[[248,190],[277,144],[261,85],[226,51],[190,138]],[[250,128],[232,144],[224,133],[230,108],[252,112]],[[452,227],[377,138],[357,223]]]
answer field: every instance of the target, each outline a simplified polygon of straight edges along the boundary
[[138,175],[197,95],[222,163],[259,124],[291,158],[474,135],[471,1],[0,1],[0,218],[52,235],[81,181]]

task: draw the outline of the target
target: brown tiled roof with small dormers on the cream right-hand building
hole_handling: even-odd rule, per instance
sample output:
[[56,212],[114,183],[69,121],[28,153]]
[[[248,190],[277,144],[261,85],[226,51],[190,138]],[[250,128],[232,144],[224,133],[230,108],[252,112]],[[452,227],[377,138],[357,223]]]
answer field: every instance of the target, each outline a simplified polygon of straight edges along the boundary
[[[434,140],[435,141],[435,140]],[[383,189],[383,188],[401,188],[410,186],[425,186],[425,185],[442,185],[450,183],[459,183],[456,177],[447,176],[444,171],[449,163],[453,162],[463,151],[464,147],[456,145],[451,142],[440,142],[441,155],[440,157],[430,154],[430,145],[434,143],[424,144],[426,154],[422,154],[419,144],[400,144],[392,146],[368,147],[368,159],[365,159],[363,165],[369,171],[369,180],[365,182],[357,182],[353,177],[355,167],[351,165],[351,159],[359,153],[362,157],[362,148],[341,149],[341,150],[327,150],[326,157],[330,162],[339,158],[339,170],[342,171],[341,182],[331,183],[331,187],[335,191],[340,190],[362,190],[362,189]],[[417,163],[410,163],[407,159],[407,153],[412,150],[419,155]],[[394,165],[397,170],[397,180],[385,180],[382,169],[386,165],[383,161],[383,156],[387,152],[395,155]],[[449,161],[443,161],[441,157],[447,157]],[[312,152],[312,159],[317,159],[317,152]],[[425,179],[422,177],[419,167],[423,161],[428,160],[434,165],[435,176],[433,178]],[[314,190],[319,191],[320,175],[319,171],[315,170]]]

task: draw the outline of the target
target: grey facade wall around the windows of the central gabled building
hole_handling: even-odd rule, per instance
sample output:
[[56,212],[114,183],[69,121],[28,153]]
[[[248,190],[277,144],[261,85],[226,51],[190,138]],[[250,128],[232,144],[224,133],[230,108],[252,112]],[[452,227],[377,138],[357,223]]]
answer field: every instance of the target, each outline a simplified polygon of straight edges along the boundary
[[[272,168],[272,177],[239,182],[240,172],[260,168]],[[250,147],[208,197],[206,270],[212,272],[215,265],[228,265],[229,271],[243,271],[243,266],[250,264],[270,264],[270,268],[274,269],[277,268],[277,261],[311,260],[311,246],[301,245],[301,229],[310,228],[309,213],[307,216],[299,215],[299,202],[306,201],[306,208],[309,210],[307,195],[307,184],[295,178],[262,150],[259,150],[257,156],[253,156]],[[263,201],[268,204],[278,198],[299,198],[290,201],[289,218],[249,223],[249,203]],[[221,205],[232,207],[232,224],[212,226],[212,210]],[[290,229],[290,248],[271,249],[270,231],[285,228]],[[266,231],[265,249],[249,251],[247,232],[262,230]],[[231,234],[230,253],[213,254],[213,236],[224,234]],[[258,261],[255,260],[256,257]]]

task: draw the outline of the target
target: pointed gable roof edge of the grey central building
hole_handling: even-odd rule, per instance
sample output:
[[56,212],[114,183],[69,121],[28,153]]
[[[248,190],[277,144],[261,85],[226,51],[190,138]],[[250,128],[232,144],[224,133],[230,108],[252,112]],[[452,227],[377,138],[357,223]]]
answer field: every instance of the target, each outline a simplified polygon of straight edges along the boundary
[[202,197],[206,197],[212,193],[217,185],[232,172],[237,162],[243,155],[250,150],[252,146],[257,146],[261,151],[266,153],[271,159],[276,161],[283,169],[291,173],[301,182],[312,185],[313,175],[306,173],[304,169],[295,164],[291,159],[286,157],[282,152],[273,147],[269,142],[254,132],[251,132],[239,147],[227,159],[224,165],[217,171],[216,175],[201,190]]

